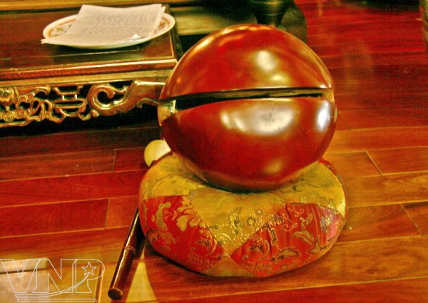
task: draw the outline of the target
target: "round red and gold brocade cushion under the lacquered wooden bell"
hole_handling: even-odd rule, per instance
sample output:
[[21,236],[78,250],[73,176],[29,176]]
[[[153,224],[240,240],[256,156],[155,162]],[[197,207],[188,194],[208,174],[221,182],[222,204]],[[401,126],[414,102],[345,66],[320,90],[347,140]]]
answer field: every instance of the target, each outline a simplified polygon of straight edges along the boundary
[[324,255],[345,225],[343,185],[321,160],[294,183],[236,193],[195,178],[173,155],[140,188],[140,220],[153,248],[213,276],[267,277]]

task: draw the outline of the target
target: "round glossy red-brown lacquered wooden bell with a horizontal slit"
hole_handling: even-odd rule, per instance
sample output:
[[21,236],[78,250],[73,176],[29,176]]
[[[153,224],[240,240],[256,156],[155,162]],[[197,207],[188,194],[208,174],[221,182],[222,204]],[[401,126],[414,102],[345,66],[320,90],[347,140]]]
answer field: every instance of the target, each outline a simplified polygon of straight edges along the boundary
[[161,92],[163,138],[218,188],[261,191],[300,178],[335,131],[330,73],[302,41],[259,24],[230,26],[185,53]]

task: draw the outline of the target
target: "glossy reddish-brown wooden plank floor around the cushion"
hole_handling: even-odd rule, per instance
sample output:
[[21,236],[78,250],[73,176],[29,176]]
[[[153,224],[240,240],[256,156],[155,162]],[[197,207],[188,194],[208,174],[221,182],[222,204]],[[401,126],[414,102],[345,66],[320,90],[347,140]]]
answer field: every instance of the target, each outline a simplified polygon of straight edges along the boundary
[[[124,302],[428,302],[428,53],[417,1],[296,2],[307,43],[335,79],[340,115],[325,158],[349,197],[339,240],[320,260],[266,279],[205,277],[143,243]],[[31,258],[44,260],[40,285],[61,259],[102,262],[83,295],[110,302],[156,119],[144,108],[68,124],[1,130],[0,302],[34,283]]]

